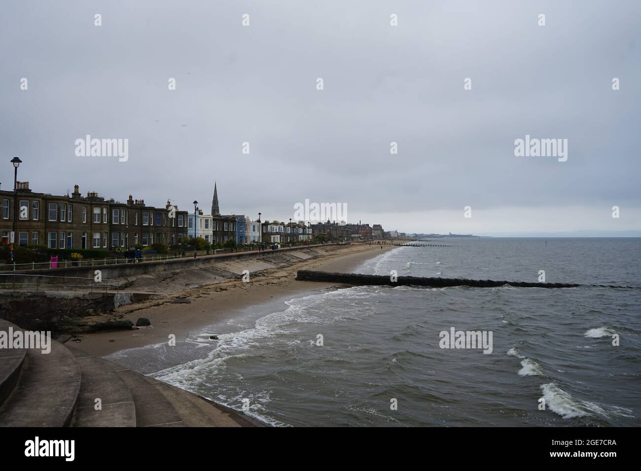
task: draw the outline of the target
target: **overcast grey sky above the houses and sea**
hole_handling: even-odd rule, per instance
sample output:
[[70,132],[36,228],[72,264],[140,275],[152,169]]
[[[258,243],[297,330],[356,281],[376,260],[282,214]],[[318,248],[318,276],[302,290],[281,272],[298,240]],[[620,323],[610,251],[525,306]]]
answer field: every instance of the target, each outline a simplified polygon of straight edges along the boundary
[[[4,3],[1,188],[19,156],[52,194],[208,213],[216,181],[222,213],[263,220],[308,199],[408,233],[638,236],[640,17],[636,0]],[[87,135],[126,139],[126,161],[78,156]],[[567,139],[567,160],[515,156],[526,135]]]

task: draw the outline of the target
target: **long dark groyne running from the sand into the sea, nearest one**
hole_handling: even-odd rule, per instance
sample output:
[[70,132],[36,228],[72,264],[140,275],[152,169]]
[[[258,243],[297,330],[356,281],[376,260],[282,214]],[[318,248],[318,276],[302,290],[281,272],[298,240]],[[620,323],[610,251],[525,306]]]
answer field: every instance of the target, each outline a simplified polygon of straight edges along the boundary
[[475,288],[496,288],[498,286],[516,286],[518,288],[576,288],[575,283],[528,283],[526,281],[494,281],[491,279],[464,279],[399,276],[392,281],[389,276],[362,275],[356,273],[328,273],[314,270],[298,270],[298,281],[324,281],[326,283],[345,283],[345,285],[386,285],[386,286],[425,286],[427,288],[446,288],[449,286],[474,286]]

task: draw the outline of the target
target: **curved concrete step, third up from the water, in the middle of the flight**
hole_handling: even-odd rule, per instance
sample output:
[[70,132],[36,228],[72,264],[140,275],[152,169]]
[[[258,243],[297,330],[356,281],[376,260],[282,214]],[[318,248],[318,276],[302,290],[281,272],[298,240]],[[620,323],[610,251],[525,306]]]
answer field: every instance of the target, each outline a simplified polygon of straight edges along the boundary
[[[136,408],[129,387],[114,371],[110,361],[65,345],[72,352],[82,374],[71,427],[135,427]],[[96,410],[96,399],[101,409]]]

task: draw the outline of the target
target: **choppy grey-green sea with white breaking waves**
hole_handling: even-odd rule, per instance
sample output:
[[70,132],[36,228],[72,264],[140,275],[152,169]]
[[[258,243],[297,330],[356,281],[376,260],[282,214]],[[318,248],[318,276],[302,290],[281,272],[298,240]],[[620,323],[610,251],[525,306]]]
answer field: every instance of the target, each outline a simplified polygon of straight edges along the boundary
[[640,238],[431,244],[353,272],[582,286],[319,289],[106,358],[271,426],[641,426]]

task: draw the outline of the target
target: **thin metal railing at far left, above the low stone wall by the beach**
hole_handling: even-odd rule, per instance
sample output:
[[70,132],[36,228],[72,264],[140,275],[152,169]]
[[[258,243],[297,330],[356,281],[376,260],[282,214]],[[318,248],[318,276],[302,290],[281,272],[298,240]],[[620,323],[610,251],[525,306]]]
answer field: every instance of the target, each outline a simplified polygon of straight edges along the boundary
[[[31,280],[32,278],[35,278],[35,283]],[[119,292],[121,281],[110,278],[96,281],[92,277],[0,273],[0,289],[5,290],[71,291],[78,288],[85,288],[90,292],[104,291],[106,293],[108,290]]]

